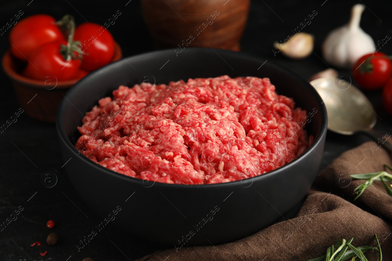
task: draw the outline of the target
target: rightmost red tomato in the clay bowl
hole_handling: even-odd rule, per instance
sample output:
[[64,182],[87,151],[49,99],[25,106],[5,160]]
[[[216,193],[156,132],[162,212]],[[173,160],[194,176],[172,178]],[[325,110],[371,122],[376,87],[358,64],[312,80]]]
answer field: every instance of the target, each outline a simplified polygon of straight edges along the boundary
[[75,29],[74,41],[82,44],[82,69],[96,70],[113,58],[114,40],[111,33],[96,23],[82,23]]

